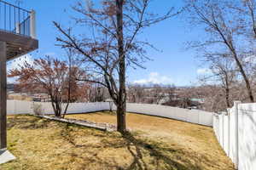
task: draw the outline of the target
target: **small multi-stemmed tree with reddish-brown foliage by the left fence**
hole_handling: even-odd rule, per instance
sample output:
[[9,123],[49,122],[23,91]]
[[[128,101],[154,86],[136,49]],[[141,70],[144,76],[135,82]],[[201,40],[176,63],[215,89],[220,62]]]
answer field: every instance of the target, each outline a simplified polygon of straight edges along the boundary
[[[8,76],[17,77],[20,88],[26,88],[26,90],[30,91],[34,89],[44,90],[49,94],[55,116],[61,117],[61,105],[67,97],[68,89],[73,91],[68,100],[79,94],[74,93],[79,90],[78,83],[68,83],[68,70],[65,61],[47,56],[46,58],[34,59],[33,64],[25,62],[24,65],[20,65],[20,68],[11,70]],[[84,74],[84,71],[80,71],[78,68],[73,68],[72,70],[71,77]]]

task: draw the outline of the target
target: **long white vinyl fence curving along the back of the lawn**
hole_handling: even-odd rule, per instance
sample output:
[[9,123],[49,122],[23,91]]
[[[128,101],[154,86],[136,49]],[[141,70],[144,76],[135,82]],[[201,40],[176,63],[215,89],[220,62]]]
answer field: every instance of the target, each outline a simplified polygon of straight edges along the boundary
[[[8,100],[8,114],[31,114],[34,108],[41,105],[41,113],[54,114],[52,106],[49,102],[28,102],[19,100]],[[63,105],[63,108],[65,105]],[[67,109],[67,114],[86,113],[94,111],[109,111],[110,104],[108,102],[98,103],[71,103]],[[116,107],[113,106],[113,110]],[[161,116],[176,119],[184,122],[192,122],[212,127],[212,113],[199,110],[188,110],[165,105],[149,105],[149,104],[131,104],[126,107],[127,112],[141,113],[151,116]]]

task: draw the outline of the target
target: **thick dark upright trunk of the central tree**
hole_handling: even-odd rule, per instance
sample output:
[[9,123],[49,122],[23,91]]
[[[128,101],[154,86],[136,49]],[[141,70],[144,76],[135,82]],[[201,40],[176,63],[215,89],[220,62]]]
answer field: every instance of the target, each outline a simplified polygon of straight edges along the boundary
[[126,90],[125,90],[125,51],[123,35],[123,6],[124,0],[116,0],[117,37],[119,49],[119,95],[117,104],[117,130],[125,133],[125,111],[126,111]]

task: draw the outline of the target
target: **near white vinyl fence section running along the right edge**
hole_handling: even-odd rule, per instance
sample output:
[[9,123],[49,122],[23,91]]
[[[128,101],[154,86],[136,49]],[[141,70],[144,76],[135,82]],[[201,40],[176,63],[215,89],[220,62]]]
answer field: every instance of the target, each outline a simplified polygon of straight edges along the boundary
[[234,102],[234,107],[213,116],[219,144],[238,170],[256,169],[256,104]]

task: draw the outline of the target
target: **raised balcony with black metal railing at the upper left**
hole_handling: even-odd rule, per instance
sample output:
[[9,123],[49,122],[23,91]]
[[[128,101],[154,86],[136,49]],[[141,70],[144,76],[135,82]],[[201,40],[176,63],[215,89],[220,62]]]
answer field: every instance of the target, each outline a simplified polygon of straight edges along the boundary
[[0,42],[6,42],[8,60],[38,48],[35,23],[35,11],[0,0]]

